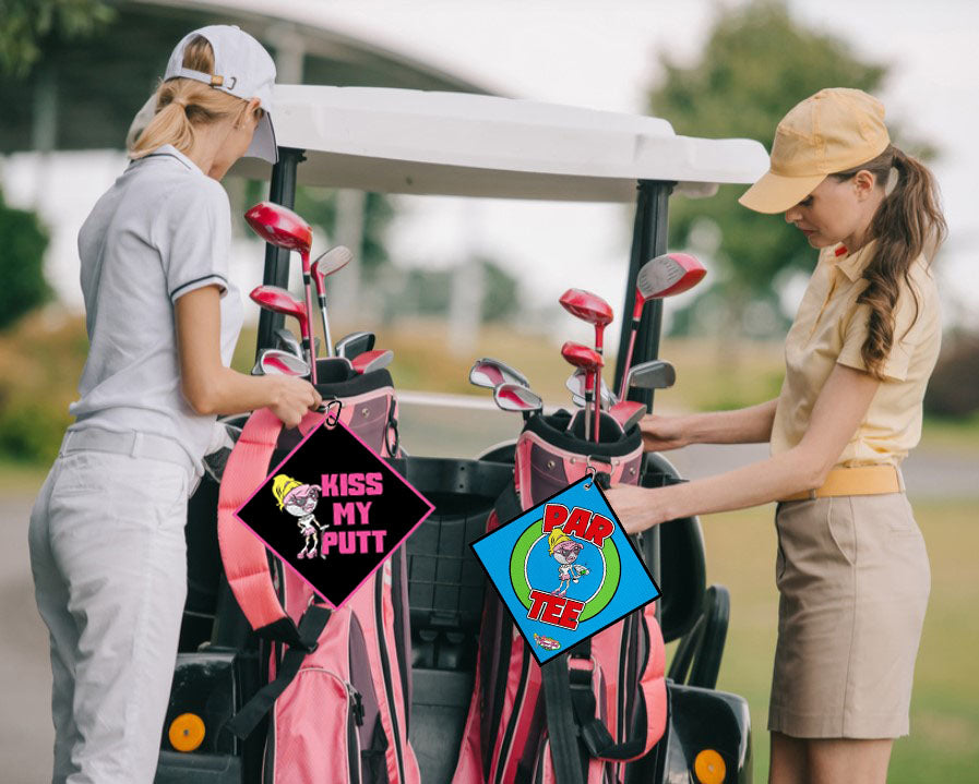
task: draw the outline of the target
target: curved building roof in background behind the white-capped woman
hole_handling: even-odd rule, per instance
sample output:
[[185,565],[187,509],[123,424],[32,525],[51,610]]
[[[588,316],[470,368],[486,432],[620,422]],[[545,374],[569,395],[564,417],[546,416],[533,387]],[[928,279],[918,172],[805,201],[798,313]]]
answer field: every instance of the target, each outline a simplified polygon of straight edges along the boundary
[[189,31],[237,24],[264,44],[283,82],[486,93],[390,46],[338,28],[326,3],[289,0],[124,0],[100,34],[44,43],[24,80],[0,77],[0,154],[122,149],[133,116]]

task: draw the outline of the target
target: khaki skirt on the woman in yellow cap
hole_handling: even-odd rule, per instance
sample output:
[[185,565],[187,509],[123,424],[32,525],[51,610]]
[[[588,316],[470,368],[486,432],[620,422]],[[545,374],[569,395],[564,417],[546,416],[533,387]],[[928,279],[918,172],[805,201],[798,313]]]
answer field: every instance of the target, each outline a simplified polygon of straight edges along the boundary
[[904,493],[779,503],[778,644],[768,729],[908,734],[931,570]]

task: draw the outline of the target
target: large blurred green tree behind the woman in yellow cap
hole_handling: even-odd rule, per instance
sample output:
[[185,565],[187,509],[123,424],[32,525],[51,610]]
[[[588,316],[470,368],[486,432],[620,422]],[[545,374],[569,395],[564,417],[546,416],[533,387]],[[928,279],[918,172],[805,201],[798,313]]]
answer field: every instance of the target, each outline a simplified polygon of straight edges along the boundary
[[[800,100],[823,87],[872,93],[887,72],[865,62],[840,38],[797,24],[781,0],[723,10],[699,62],[684,68],[666,56],[661,65],[665,77],[652,91],[649,108],[677,133],[755,138],[767,149],[778,121]],[[815,251],[783,216],[760,215],[738,204],[744,190],[721,186],[713,198],[670,203],[671,244],[709,260],[713,286],[701,297],[709,295],[712,305],[726,311],[714,315],[721,321],[720,334],[729,338],[754,331],[743,318],[749,303],[762,301],[778,312],[778,284],[792,270],[809,273],[815,266]],[[696,312],[696,300],[690,309]],[[676,324],[695,330],[695,321],[678,318]],[[712,333],[717,326],[712,325]]]

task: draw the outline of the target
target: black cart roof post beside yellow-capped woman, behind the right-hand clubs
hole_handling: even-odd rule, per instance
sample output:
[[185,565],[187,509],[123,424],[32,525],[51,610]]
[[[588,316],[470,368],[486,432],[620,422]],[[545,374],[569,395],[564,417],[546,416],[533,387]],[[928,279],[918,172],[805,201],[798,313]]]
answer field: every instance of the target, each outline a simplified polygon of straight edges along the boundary
[[[622,328],[619,338],[619,353],[616,360],[616,385],[618,389],[622,383],[622,374],[625,372],[625,352],[629,350],[629,333],[632,329],[630,314],[635,304],[635,280],[638,277],[640,267],[654,256],[666,253],[667,213],[670,193],[673,182],[659,180],[640,180],[636,190],[638,196],[635,205],[635,224],[632,230],[632,252],[629,260],[629,277],[625,285],[625,304],[622,307]],[[632,363],[646,362],[657,359],[659,355],[659,333],[662,325],[662,300],[654,300],[643,311],[638,333],[635,338],[635,350]],[[653,410],[653,390],[634,389],[626,391],[625,397],[638,400]],[[656,580],[661,578],[659,566],[659,527],[654,526],[646,531],[644,536],[649,538],[646,553],[649,556],[647,566]],[[656,603],[656,619],[660,620],[660,605]]]

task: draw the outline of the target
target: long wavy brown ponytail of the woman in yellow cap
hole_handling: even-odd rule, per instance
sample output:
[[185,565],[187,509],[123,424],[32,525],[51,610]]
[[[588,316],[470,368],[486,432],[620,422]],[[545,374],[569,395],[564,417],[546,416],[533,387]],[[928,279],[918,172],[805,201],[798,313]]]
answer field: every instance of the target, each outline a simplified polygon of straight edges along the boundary
[[[884,196],[870,224],[868,239],[875,240],[875,244],[863,270],[867,288],[857,299],[859,304],[870,305],[868,335],[860,354],[868,372],[883,378],[881,367],[894,345],[894,309],[900,278],[915,298],[917,321],[920,302],[910,286],[911,263],[922,252],[933,254],[944,241],[947,227],[939,205],[938,184],[919,160],[890,145],[873,160],[833,177],[847,180],[861,170],[871,172],[874,183],[885,191],[896,177],[893,190]],[[929,257],[928,263],[931,261]]]

